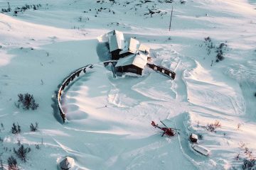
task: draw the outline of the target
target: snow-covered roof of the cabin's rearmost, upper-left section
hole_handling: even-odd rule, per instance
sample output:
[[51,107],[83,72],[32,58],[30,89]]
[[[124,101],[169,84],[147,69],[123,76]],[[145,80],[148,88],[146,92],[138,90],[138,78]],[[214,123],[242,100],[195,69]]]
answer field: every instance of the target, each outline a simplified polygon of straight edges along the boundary
[[110,44],[110,52],[124,48],[124,34],[118,30],[112,30],[107,33]]

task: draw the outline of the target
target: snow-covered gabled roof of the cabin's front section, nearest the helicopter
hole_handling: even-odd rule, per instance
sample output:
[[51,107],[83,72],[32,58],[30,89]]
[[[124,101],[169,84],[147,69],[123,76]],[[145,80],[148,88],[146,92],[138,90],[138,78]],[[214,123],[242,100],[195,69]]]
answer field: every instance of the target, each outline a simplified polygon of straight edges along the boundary
[[146,66],[146,62],[147,62],[146,55],[142,53],[135,54],[135,55],[132,54],[132,55],[128,55],[127,57],[119,59],[115,67],[133,64],[139,68],[144,69],[144,67]]

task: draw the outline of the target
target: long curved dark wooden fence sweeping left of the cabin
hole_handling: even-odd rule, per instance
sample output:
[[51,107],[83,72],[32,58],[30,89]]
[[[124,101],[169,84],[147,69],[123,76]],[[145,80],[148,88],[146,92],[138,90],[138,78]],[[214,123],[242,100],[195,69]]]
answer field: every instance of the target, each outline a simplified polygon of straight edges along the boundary
[[65,123],[66,116],[65,116],[65,113],[64,113],[63,108],[61,107],[61,103],[60,103],[62,91],[65,89],[66,86],[68,86],[68,84],[70,84],[71,81],[73,81],[75,79],[75,77],[79,77],[81,72],[83,72],[85,74],[87,68],[92,69],[93,65],[88,64],[85,67],[81,67],[80,69],[75,70],[75,72],[71,73],[67,78],[64,79],[63,84],[61,84],[60,89],[58,89],[58,94],[57,94],[58,110],[60,111],[60,116],[63,119],[64,123]]

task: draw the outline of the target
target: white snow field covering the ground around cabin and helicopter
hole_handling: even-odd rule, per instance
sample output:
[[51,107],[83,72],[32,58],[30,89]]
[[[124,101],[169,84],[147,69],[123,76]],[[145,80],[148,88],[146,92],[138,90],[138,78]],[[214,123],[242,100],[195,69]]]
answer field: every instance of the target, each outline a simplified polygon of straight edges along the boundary
[[[7,2],[0,0],[0,10]],[[255,0],[9,3],[11,11],[0,13],[0,159],[6,169],[11,155],[26,170],[57,169],[65,156],[75,159],[75,169],[140,170],[242,169],[243,159],[256,157]],[[25,4],[41,8],[14,16]],[[161,12],[145,15],[148,8]],[[114,78],[98,56],[100,35],[114,29],[151,47],[153,62],[174,70],[176,79],[148,68],[142,77]],[[224,60],[215,62],[214,49],[207,54],[207,37],[216,46],[227,41]],[[95,67],[63,93],[67,122],[60,123],[52,97],[65,77],[87,64]],[[14,105],[25,93],[39,103],[36,111]],[[179,135],[161,137],[151,120],[181,129]],[[221,127],[206,130],[216,120]],[[39,129],[31,132],[36,122]],[[21,125],[20,134],[11,133],[12,123]],[[210,149],[209,157],[191,149],[191,132],[203,136],[199,144]],[[31,147],[27,162],[13,152],[18,140]]]

